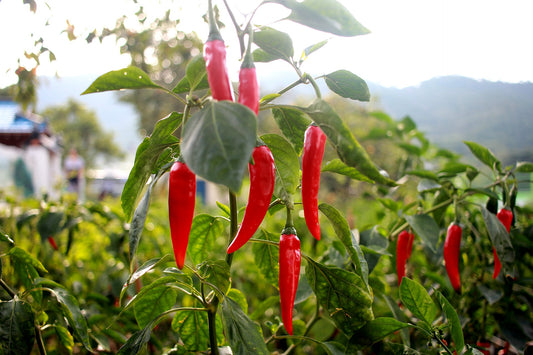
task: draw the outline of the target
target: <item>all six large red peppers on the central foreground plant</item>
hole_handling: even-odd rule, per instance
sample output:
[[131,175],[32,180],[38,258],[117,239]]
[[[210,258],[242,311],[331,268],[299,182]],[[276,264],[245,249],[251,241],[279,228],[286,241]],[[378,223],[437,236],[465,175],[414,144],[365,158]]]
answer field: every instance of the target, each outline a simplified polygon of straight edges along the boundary
[[[211,95],[214,100],[233,101],[232,86],[226,67],[226,47],[214,20],[211,1],[209,8],[210,31],[204,46],[204,60]],[[238,102],[257,115],[259,85],[250,48],[243,58],[239,71]],[[325,142],[326,135],[322,130],[316,125],[310,125],[305,132],[302,154],[302,204],[309,231],[317,240],[320,239],[317,196]],[[249,163],[248,169],[249,201],[240,228],[228,247],[228,254],[237,251],[254,235],[272,200],[275,185],[274,158],[270,149],[260,140],[252,152],[252,162]],[[185,263],[195,199],[196,176],[179,159],[170,170],[168,204],[174,256],[180,269]],[[287,332],[292,335],[292,314],[300,275],[301,251],[300,240],[292,227],[292,221],[287,225],[279,241],[279,290],[283,324]]]

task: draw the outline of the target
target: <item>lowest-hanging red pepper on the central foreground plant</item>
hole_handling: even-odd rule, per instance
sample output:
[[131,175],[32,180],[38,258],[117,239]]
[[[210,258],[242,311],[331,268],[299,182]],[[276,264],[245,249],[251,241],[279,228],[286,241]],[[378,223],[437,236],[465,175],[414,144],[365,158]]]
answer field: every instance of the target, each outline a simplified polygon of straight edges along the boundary
[[300,240],[294,228],[285,228],[279,239],[279,295],[281,319],[287,333],[292,335],[292,312],[300,277]]

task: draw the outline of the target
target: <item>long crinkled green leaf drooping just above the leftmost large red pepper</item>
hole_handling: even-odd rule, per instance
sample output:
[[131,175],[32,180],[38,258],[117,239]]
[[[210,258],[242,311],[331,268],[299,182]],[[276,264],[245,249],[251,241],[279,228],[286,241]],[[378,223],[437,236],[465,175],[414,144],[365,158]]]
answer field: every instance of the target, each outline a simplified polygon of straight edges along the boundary
[[137,200],[150,176],[157,173],[163,163],[166,164],[166,162],[159,161],[159,157],[165,149],[179,144],[179,140],[172,133],[181,125],[182,117],[182,114],[173,112],[160,119],[157,121],[152,135],[144,138],[137,147],[135,162],[121,196],[122,209],[126,220],[130,220]]

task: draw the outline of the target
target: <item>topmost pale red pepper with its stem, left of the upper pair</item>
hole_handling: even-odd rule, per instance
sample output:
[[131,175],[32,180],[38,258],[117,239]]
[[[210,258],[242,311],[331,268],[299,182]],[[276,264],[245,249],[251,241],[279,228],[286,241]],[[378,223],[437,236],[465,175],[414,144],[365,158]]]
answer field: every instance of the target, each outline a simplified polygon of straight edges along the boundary
[[211,96],[219,101],[233,101],[233,88],[226,67],[226,45],[218,31],[211,1],[209,1],[208,13],[209,36],[204,45],[204,60]]

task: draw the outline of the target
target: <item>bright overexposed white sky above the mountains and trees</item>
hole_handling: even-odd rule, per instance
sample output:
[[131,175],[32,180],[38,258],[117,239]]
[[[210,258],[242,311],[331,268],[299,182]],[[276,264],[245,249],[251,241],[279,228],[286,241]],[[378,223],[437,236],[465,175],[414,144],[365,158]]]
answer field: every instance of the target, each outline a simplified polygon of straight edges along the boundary
[[[170,0],[139,0],[154,16],[170,6]],[[229,46],[230,75],[236,80],[239,67],[235,34],[222,0],[213,0],[221,8],[228,25],[223,36]],[[372,33],[351,38],[335,37],[301,25],[276,21],[288,11],[265,5],[254,23],[290,32],[297,55],[307,46],[331,38],[328,45],[305,63],[313,75],[347,69],[367,81],[384,86],[406,87],[433,77],[461,75],[474,79],[506,82],[533,82],[533,1],[530,0],[340,0],[354,17]],[[57,56],[57,61],[43,60],[39,75],[99,75],[129,64],[121,56],[113,38],[102,44],[87,45],[83,38],[69,42],[62,32],[67,19],[75,25],[74,34],[87,33],[95,27],[114,27],[115,20],[136,9],[132,0],[37,0],[37,14],[22,0],[0,0],[0,87],[16,81],[14,69],[25,50],[31,50],[38,38]],[[238,20],[244,18],[258,1],[228,0]],[[49,5],[49,6],[48,6]],[[207,1],[175,0],[173,18],[180,18],[179,29],[207,35],[201,15]],[[242,15],[242,16],[241,16]],[[43,26],[46,22],[49,26]],[[45,30],[43,30],[45,28]],[[294,32],[293,32],[294,31]],[[24,65],[22,59],[21,64]],[[262,67],[260,67],[262,68]],[[265,67],[266,68],[266,67]],[[283,63],[274,68],[283,69]],[[285,65],[285,68],[288,67]]]

